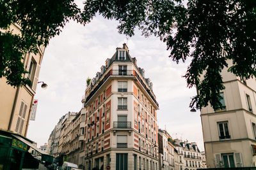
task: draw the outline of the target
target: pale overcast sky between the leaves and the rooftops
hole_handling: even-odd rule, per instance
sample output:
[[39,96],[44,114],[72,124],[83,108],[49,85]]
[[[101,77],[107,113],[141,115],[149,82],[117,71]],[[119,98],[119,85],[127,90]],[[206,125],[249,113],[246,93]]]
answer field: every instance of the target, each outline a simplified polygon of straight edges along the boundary
[[115,53],[116,47],[127,43],[131,57],[138,67],[145,69],[159,103],[159,129],[166,129],[173,138],[195,141],[204,150],[200,113],[191,113],[189,102],[196,89],[188,89],[182,75],[188,63],[177,65],[168,55],[166,45],[159,38],[145,38],[136,31],[127,38],[118,34],[115,20],[101,16],[93,18],[85,27],[68,23],[60,36],[51,39],[45,49],[38,81],[48,84],[43,90],[38,85],[36,120],[29,122],[28,138],[44,145],[60,117],[68,111],[80,111],[86,88],[86,78],[95,77],[100,66]]

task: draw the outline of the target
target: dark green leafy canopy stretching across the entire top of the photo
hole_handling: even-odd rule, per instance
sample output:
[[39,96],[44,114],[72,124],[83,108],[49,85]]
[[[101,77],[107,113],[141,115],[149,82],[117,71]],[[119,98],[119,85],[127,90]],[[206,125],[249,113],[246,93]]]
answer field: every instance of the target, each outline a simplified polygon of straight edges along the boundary
[[228,67],[227,60],[232,61],[228,71],[237,76],[256,76],[256,1],[188,0],[186,6],[183,3],[87,0],[81,11],[72,0],[1,1],[0,28],[20,23],[22,36],[0,32],[0,76],[13,86],[28,83],[22,79],[25,71],[20,59],[24,53],[36,53],[37,44],[46,46],[68,20],[88,24],[99,13],[104,18],[118,20],[121,34],[133,36],[138,28],[143,36],[159,37],[177,64],[190,57],[191,64],[184,77],[189,88],[198,89],[190,106],[202,108],[210,103],[216,107],[220,105],[220,90],[224,89],[220,73]]

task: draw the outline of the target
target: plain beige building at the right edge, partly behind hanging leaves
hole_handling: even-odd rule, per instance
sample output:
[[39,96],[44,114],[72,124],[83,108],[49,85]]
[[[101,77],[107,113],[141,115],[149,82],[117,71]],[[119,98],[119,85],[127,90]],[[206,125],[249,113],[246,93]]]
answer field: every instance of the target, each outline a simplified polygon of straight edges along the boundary
[[[232,61],[228,60],[228,66]],[[201,110],[207,167],[255,166],[256,81],[221,72],[221,106]]]

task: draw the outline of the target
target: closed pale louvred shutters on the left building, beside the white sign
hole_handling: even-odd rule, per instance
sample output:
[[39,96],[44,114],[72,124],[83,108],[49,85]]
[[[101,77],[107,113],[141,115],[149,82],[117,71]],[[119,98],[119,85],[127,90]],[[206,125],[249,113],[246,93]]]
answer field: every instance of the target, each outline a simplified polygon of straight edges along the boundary
[[26,117],[26,111],[27,111],[27,104],[25,104],[23,101],[20,104],[20,110],[19,110],[19,115],[17,119],[17,124],[15,127],[15,132],[22,134],[23,131],[23,126],[24,126],[24,121]]

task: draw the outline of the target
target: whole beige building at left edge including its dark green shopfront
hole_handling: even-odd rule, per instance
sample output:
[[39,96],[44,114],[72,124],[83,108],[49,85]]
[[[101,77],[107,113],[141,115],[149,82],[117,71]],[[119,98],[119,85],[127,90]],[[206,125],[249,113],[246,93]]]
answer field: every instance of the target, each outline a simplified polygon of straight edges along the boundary
[[[4,30],[0,30],[4,32]],[[20,35],[19,24],[11,24],[9,31]],[[29,148],[33,148],[33,141],[26,138],[29,126],[31,109],[33,106],[38,76],[44,55],[44,46],[37,46],[38,53],[27,53],[23,56],[24,69],[28,73],[22,78],[29,78],[31,85],[12,87],[6,78],[0,78],[0,168],[22,169],[36,168],[38,161],[33,166],[26,164],[31,159]],[[40,150],[39,150],[40,152]],[[43,153],[42,153],[43,154]],[[31,160],[32,161],[32,160]],[[36,164],[37,162],[37,164]]]

